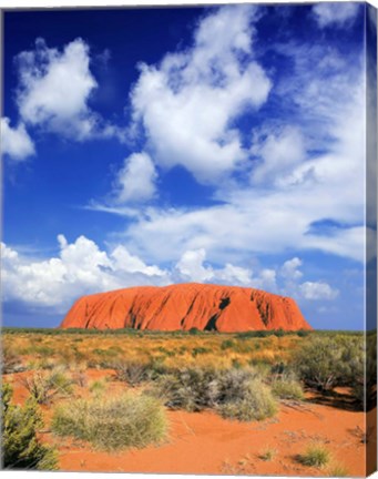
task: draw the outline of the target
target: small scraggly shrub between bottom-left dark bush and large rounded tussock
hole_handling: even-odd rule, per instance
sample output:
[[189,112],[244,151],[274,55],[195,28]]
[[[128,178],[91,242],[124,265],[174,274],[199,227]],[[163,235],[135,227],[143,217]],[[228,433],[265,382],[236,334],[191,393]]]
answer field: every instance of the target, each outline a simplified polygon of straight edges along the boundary
[[63,368],[57,367],[50,373],[35,373],[22,379],[22,384],[38,404],[49,404],[55,396],[67,396],[72,393],[73,380]]

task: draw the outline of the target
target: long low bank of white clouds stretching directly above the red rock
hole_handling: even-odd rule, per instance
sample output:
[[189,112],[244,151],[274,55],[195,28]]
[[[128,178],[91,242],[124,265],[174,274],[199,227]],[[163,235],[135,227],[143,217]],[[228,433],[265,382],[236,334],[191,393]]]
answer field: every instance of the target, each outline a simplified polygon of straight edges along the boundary
[[[256,268],[226,262],[215,266],[206,261],[205,249],[191,249],[170,268],[149,264],[132,254],[129,246],[115,245],[103,251],[85,236],[69,243],[58,236],[59,253],[49,258],[35,258],[1,243],[2,296],[4,302],[18,300],[29,306],[44,307],[64,314],[80,296],[129,286],[198,282],[256,287],[308,300],[329,300],[338,295],[325,282],[299,283],[302,274],[297,257],[280,267]],[[286,272],[283,275],[283,272]]]

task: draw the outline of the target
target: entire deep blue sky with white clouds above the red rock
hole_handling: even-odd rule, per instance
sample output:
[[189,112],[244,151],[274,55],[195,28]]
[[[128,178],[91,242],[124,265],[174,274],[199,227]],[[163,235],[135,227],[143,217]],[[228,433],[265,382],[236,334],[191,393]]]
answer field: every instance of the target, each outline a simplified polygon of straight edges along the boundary
[[361,329],[365,13],[6,12],[3,324],[52,327],[83,294],[204,282]]

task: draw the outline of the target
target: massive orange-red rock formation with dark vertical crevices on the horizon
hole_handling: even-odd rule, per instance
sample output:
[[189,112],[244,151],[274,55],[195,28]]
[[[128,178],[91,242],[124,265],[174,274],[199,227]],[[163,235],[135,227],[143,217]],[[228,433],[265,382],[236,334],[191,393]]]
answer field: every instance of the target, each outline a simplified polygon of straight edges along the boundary
[[224,333],[311,329],[292,298],[253,288],[194,283],[83,296],[60,327]]

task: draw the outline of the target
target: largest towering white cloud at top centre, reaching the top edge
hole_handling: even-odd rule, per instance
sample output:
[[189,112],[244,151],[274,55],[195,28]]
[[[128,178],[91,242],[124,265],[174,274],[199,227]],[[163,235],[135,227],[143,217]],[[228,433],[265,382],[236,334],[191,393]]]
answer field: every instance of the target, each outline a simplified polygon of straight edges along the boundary
[[270,90],[252,58],[255,18],[253,6],[223,7],[200,22],[191,49],[166,54],[160,65],[140,65],[134,123],[144,126],[162,167],[182,165],[198,182],[215,183],[245,162],[248,153],[231,124],[257,110]]

